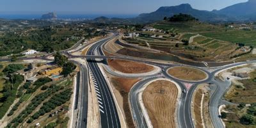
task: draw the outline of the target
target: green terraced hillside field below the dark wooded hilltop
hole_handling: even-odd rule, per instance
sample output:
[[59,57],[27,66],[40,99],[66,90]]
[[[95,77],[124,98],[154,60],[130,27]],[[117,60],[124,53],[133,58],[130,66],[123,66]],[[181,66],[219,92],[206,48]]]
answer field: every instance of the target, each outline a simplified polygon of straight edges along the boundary
[[[214,26],[201,22],[159,22],[154,28],[167,30],[177,29],[177,32],[180,33],[195,33],[217,40],[256,46],[256,31],[254,30],[230,29],[224,26]],[[205,40],[205,42],[208,40],[210,39]],[[205,42],[202,41],[202,44]]]

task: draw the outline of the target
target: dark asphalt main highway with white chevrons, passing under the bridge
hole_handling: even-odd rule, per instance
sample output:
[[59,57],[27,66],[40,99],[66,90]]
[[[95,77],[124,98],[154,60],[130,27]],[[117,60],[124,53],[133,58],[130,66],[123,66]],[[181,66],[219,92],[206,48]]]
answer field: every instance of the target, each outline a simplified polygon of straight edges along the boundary
[[[95,51],[99,50],[100,45],[104,44],[107,40],[108,38],[93,44],[87,54],[94,55]],[[87,62],[99,102],[101,127],[121,127],[118,113],[116,111],[115,101],[113,100],[113,94],[110,92],[108,83],[97,65],[99,61],[96,61],[95,59],[88,59]]]

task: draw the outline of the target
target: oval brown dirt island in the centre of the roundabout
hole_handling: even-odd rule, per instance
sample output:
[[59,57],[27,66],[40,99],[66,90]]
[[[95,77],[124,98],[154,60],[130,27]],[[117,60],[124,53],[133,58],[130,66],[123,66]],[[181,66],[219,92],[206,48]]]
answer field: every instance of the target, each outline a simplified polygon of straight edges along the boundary
[[168,74],[186,81],[200,81],[207,77],[201,70],[190,67],[173,67],[168,70]]

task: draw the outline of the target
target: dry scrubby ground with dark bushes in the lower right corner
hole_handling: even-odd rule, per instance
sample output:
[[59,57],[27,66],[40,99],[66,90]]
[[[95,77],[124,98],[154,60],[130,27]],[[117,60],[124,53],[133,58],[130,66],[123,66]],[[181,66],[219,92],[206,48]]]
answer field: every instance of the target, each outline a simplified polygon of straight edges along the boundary
[[[239,80],[243,86],[233,85],[230,93],[225,95],[225,99],[238,103],[238,106],[227,106],[227,126],[241,125],[241,127],[255,127],[256,125],[256,71],[250,73],[251,79]],[[251,106],[246,106],[250,104]]]

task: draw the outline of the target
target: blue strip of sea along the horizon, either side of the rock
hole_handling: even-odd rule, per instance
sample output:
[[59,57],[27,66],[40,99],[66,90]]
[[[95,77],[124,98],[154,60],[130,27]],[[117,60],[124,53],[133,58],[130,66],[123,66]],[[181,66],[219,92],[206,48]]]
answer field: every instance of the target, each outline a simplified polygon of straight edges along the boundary
[[[133,18],[138,15],[136,14],[58,14],[58,19],[95,19],[97,17],[108,17],[108,18]],[[42,17],[42,14],[6,14],[6,13],[0,13],[0,19],[40,19]]]

